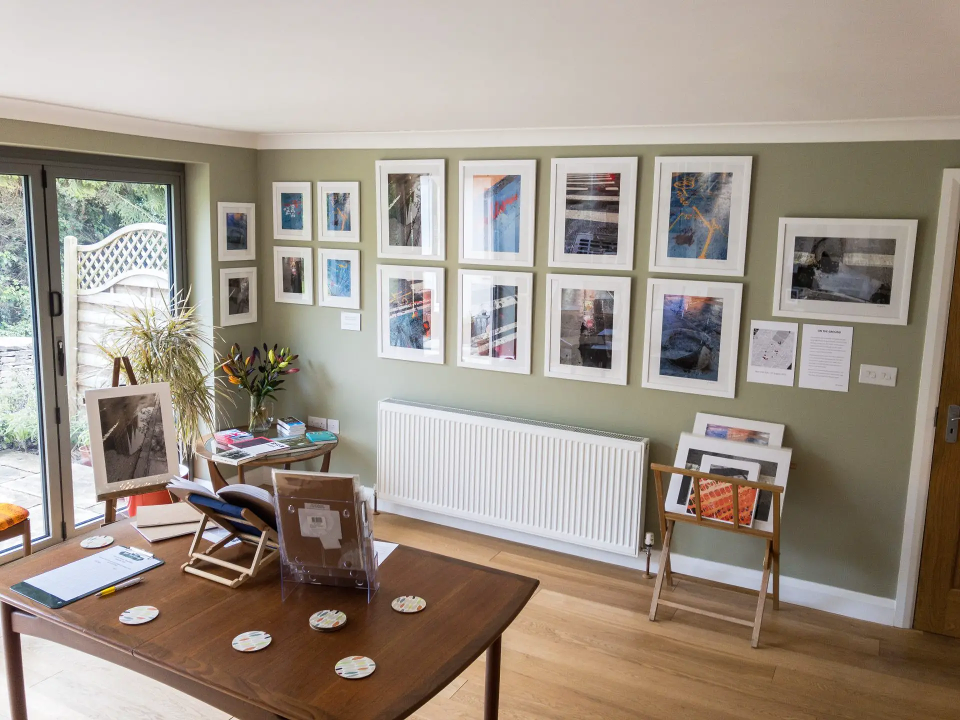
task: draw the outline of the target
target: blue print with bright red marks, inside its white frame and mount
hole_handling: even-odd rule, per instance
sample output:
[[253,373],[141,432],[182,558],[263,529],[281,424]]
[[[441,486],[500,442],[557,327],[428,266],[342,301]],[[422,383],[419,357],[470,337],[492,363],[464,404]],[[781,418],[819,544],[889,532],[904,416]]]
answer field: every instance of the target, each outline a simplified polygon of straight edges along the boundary
[[474,175],[470,250],[520,252],[520,176]]

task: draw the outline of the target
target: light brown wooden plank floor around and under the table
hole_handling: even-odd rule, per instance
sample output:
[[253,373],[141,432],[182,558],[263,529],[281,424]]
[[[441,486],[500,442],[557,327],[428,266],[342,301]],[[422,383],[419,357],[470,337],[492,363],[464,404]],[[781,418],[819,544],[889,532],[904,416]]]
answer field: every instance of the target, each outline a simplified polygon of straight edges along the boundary
[[[719,620],[663,609],[650,622],[653,581],[636,571],[396,516],[377,516],[376,535],[540,578],[504,636],[504,720],[960,717],[960,640],[791,605],[773,612],[768,602],[752,650],[748,628]],[[746,619],[756,606],[749,595],[683,578],[668,594]],[[36,638],[24,638],[24,661],[32,720],[228,718]],[[414,717],[479,720],[483,678],[481,659]]]

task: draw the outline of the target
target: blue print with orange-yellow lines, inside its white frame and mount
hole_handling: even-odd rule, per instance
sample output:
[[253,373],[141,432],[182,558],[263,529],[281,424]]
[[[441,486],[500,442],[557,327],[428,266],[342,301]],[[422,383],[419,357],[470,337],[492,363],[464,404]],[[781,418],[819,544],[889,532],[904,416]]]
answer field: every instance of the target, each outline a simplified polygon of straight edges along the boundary
[[673,173],[668,257],[727,259],[732,188],[732,173]]

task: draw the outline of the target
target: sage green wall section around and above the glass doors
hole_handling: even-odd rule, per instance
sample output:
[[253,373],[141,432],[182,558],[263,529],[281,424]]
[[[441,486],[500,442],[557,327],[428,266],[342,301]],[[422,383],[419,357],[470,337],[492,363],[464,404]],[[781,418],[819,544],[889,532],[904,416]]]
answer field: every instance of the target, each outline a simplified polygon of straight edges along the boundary
[[[221,264],[217,262],[217,203],[255,201],[255,150],[6,119],[0,119],[0,145],[184,163],[183,212],[191,298],[207,326],[219,324]],[[96,162],[96,158],[91,161]],[[223,267],[248,264],[225,263]],[[238,342],[249,344],[259,337],[255,324],[230,329],[230,338]],[[217,344],[216,351],[226,351],[223,343]],[[218,403],[218,410],[233,422],[244,420],[247,414],[246,406],[236,407],[229,402]]]

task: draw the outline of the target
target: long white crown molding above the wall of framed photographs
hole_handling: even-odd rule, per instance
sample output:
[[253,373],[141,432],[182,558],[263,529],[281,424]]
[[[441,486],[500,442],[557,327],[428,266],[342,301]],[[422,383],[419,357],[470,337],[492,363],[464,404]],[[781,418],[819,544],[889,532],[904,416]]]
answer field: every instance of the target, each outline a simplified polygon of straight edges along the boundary
[[501,148],[563,145],[684,145],[957,140],[960,117],[800,123],[635,125],[437,132],[300,132],[258,135],[258,150]]

